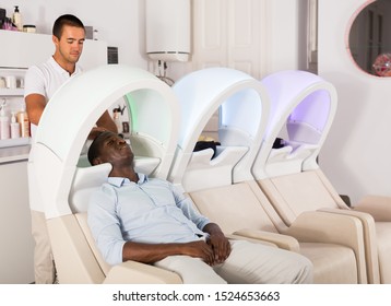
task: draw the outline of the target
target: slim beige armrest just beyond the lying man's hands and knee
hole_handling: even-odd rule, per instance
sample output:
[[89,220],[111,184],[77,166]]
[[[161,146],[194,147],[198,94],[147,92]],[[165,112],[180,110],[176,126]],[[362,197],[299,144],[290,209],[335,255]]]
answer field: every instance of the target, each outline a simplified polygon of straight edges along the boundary
[[294,237],[281,235],[277,233],[242,228],[236,231],[234,233],[234,236],[236,236],[239,239],[274,245],[277,246],[279,248],[287,249],[296,252],[298,252],[300,249],[298,242]]

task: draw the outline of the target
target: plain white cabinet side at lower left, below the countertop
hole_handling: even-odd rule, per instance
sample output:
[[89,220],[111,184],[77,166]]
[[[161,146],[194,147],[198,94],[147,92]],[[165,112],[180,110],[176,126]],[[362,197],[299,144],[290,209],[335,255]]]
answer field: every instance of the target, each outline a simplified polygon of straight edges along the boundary
[[27,161],[0,164],[0,283],[34,282]]

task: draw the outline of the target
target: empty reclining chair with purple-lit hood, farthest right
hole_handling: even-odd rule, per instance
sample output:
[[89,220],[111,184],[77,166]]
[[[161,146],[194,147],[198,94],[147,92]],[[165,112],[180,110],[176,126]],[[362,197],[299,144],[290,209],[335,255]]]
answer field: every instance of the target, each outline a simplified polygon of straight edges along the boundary
[[[391,283],[391,200],[387,204],[367,198],[352,209],[318,165],[336,110],[335,90],[304,71],[282,71],[261,83],[270,93],[272,110],[253,174],[284,225],[315,211],[355,216],[364,228],[368,282]],[[284,139],[284,145],[273,149],[276,138]]]

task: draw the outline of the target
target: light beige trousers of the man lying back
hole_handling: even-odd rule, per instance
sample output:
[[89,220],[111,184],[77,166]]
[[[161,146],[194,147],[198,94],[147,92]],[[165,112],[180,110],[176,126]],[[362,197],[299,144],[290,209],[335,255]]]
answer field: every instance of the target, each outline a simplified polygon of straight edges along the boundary
[[199,258],[169,256],[155,262],[177,272],[188,284],[307,284],[312,263],[304,256],[246,240],[230,240],[227,260],[211,267]]

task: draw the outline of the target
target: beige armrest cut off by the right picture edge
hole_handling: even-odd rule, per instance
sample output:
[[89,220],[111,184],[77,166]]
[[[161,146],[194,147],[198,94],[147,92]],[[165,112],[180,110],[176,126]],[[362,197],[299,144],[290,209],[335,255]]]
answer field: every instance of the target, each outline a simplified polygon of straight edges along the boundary
[[391,197],[366,196],[353,210],[369,213],[376,222],[391,221]]

